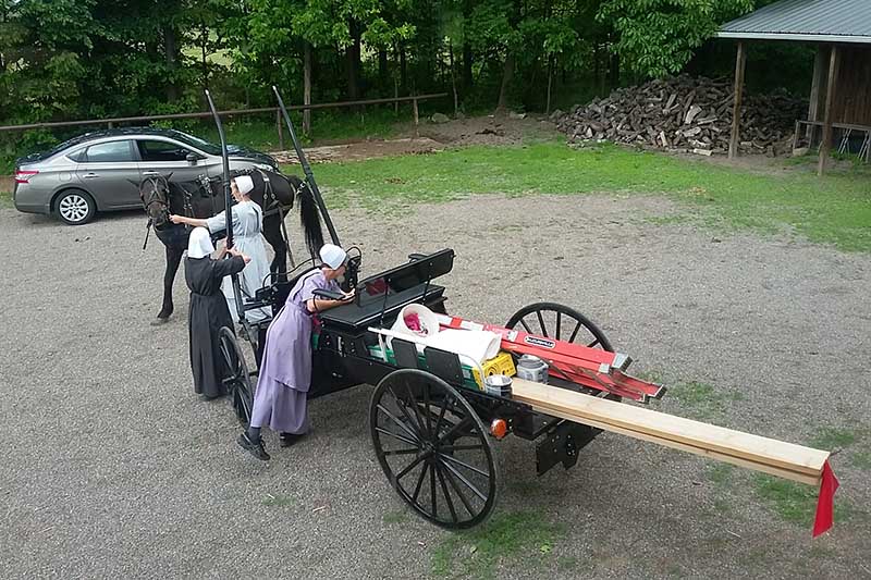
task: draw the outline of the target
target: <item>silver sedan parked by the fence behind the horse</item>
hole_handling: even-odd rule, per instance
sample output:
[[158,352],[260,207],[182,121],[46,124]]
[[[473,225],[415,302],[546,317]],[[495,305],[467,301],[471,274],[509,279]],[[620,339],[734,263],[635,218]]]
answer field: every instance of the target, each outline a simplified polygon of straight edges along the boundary
[[[278,171],[271,156],[228,146],[230,169]],[[87,133],[51,151],[15,162],[13,199],[19,211],[57,214],[64,223],[89,222],[97,211],[142,208],[138,184],[172,173],[194,181],[223,171],[221,148],[180,131],[124,127]]]

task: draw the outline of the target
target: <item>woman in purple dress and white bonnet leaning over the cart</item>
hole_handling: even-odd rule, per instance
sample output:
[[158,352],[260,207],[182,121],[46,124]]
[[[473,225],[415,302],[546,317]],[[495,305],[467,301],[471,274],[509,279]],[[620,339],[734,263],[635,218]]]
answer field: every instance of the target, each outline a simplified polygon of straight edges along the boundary
[[[323,266],[303,274],[284,308],[266,333],[263,360],[254,396],[252,421],[237,440],[242,448],[263,461],[266,453],[260,429],[269,425],[281,434],[281,445],[296,443],[308,432],[308,387],[311,383],[311,317],[354,298],[342,293],[336,279],[345,273],[345,250],[332,244],[320,249]],[[316,298],[316,289],[344,295],[341,300]]]

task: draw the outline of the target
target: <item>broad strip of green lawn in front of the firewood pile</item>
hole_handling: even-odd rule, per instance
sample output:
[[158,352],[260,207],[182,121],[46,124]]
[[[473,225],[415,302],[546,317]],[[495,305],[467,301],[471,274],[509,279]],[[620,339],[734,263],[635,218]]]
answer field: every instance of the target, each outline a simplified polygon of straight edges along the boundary
[[794,233],[847,251],[871,250],[871,180],[866,175],[847,171],[819,178],[800,169],[771,174],[610,145],[573,149],[554,141],[317,169],[330,207],[355,202],[384,211],[475,194],[662,195],[702,225]]

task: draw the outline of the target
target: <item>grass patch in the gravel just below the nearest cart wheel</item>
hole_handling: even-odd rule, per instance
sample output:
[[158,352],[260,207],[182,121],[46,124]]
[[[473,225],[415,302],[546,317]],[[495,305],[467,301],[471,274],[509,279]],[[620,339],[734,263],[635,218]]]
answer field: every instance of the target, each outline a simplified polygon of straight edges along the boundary
[[488,579],[500,563],[535,567],[550,557],[563,533],[560,526],[533,513],[503,514],[467,532],[445,536],[431,557],[437,577]]

